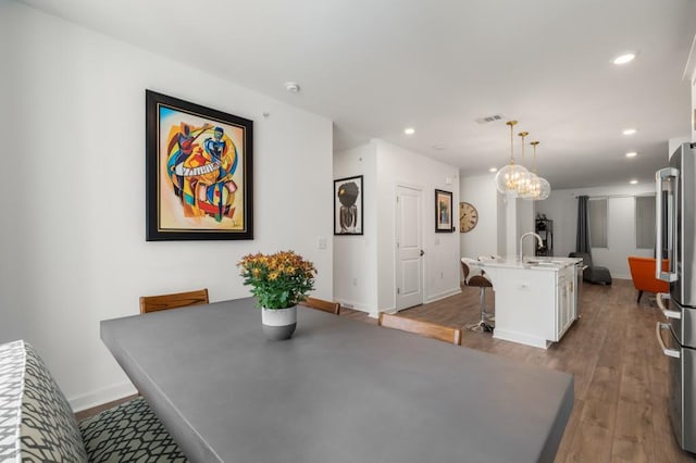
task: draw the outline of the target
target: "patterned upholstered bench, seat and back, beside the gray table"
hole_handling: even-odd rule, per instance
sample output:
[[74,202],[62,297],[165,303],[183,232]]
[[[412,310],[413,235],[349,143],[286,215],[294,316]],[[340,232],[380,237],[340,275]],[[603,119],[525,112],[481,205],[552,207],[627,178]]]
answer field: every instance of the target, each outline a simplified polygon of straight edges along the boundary
[[0,345],[0,461],[186,462],[142,398],[77,423],[36,350]]

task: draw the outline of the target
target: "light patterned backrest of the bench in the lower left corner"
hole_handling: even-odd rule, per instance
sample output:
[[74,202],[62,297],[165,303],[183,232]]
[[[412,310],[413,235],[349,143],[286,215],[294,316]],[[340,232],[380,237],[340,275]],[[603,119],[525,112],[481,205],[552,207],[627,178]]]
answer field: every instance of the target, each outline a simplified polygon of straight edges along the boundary
[[20,417],[18,435],[3,437],[3,448],[13,440],[14,459],[23,462],[86,462],[75,415],[36,350],[15,341],[0,346],[0,352],[4,359],[0,377],[8,390],[21,393],[20,412],[16,400],[11,401],[13,410],[2,412]]

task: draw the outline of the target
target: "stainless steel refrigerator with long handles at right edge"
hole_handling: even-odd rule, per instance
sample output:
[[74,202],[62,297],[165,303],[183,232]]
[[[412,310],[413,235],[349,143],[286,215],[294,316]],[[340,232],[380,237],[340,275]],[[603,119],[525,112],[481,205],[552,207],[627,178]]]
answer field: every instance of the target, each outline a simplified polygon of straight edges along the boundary
[[656,334],[669,356],[672,428],[682,449],[696,452],[696,143],[683,143],[656,183],[656,274],[670,281]]

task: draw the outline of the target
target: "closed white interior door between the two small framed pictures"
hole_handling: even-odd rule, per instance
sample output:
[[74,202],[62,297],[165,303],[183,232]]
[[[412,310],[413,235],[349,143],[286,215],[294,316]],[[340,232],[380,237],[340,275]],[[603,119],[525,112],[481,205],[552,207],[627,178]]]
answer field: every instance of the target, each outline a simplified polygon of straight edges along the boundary
[[423,303],[423,192],[396,190],[396,309]]

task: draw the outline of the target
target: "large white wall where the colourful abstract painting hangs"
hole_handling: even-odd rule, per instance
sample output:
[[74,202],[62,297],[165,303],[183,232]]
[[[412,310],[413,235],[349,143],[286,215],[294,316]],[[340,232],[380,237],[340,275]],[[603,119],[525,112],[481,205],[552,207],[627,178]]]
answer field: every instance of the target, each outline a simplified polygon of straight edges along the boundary
[[[331,297],[331,121],[15,2],[0,57],[0,342],[35,345],[76,409],[133,390],[99,321],[140,295],[246,297],[236,262],[291,248]],[[145,241],[146,88],[254,121],[254,240]]]

